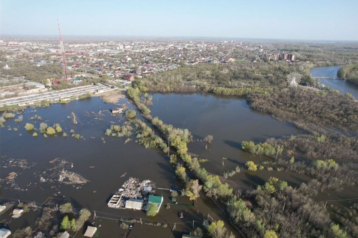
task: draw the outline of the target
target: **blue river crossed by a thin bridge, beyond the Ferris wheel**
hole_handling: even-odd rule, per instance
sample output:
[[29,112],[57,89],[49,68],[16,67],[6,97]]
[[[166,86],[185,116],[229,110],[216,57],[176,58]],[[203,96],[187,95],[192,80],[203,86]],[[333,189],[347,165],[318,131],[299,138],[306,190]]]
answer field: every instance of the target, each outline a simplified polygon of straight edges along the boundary
[[[342,66],[316,67],[311,69],[311,76],[314,77],[337,77],[337,71]],[[358,99],[358,86],[343,79],[319,78],[320,84],[332,87],[341,93],[350,93]]]

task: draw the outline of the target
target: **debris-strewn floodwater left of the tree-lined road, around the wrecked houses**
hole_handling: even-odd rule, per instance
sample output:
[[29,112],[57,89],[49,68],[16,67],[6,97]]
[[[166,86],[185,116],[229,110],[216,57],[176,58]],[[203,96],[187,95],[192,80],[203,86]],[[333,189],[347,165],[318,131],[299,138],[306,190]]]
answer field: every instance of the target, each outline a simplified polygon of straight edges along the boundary
[[[127,103],[127,100],[121,99],[119,103]],[[132,107],[129,104],[127,105]],[[148,218],[144,211],[108,208],[108,199],[129,177],[136,177],[141,180],[150,179],[159,188],[182,189],[183,184],[176,178],[174,168],[170,166],[168,158],[163,153],[145,149],[134,142],[134,131],[131,136],[132,141],[127,144],[124,144],[125,137],[104,135],[106,128],[112,123],[122,124],[125,121],[124,115],[113,116],[108,111],[114,106],[111,103],[104,103],[98,97],[92,97],[72,101],[66,105],[54,104],[49,108],[26,108],[25,112],[22,113],[24,118],[22,123],[15,123],[13,118],[8,119],[4,123],[5,127],[0,129],[2,164],[0,175],[1,179],[4,179],[9,173],[17,172],[18,176],[15,177],[15,183],[18,184],[20,190],[9,188],[8,184],[2,182],[1,201],[17,201],[20,199],[23,202],[35,201],[40,206],[48,197],[65,198],[75,208],[86,207],[92,210],[92,216],[95,210],[97,216],[112,219],[119,217],[127,219],[132,217]],[[31,112],[34,109],[37,111]],[[67,119],[71,112],[74,112],[77,116],[78,123],[76,125],[72,123],[71,119]],[[42,120],[31,121],[30,117],[34,115],[41,116]],[[141,118],[139,113],[137,113],[137,117]],[[35,128],[39,127],[40,122],[46,122],[49,126],[53,123],[60,123],[63,131],[69,136],[59,135],[58,137],[44,138],[38,132],[38,136],[33,137],[32,132],[29,133],[24,128],[26,122],[36,122],[34,123]],[[18,131],[9,131],[8,126],[17,127]],[[85,140],[77,140],[71,137],[70,129],[74,129],[75,133],[83,136]],[[101,137],[105,138],[106,143],[101,141]],[[49,161],[54,158],[61,158],[73,163],[73,168],[69,164],[68,170],[78,173],[90,182],[83,185],[40,182],[38,174],[52,167],[53,163],[49,163]],[[26,169],[20,167],[4,168],[3,165],[11,159],[26,159],[29,163],[36,164]],[[124,173],[126,175],[121,177]],[[170,202],[171,198],[168,191],[156,190],[157,195],[160,196],[162,193],[164,203]],[[182,197],[179,198],[179,202],[190,204],[187,198]],[[179,212],[184,212],[184,219],[178,218]],[[172,222],[172,225],[178,223],[176,230],[183,231],[185,228],[192,227],[193,220],[195,226],[200,225],[203,214],[206,218],[208,213],[213,219],[221,219],[228,223],[225,214],[220,212],[219,208],[204,194],[198,199],[197,207],[173,206],[170,209],[165,209],[163,204],[160,213],[149,219]],[[98,222],[99,220],[96,219],[95,221]],[[182,222],[187,223],[179,224]],[[119,226],[117,223],[111,224]],[[232,227],[228,226],[228,228],[236,233]],[[102,233],[106,232],[102,231]],[[153,234],[153,236],[155,235]],[[236,236],[238,237],[238,234]]]

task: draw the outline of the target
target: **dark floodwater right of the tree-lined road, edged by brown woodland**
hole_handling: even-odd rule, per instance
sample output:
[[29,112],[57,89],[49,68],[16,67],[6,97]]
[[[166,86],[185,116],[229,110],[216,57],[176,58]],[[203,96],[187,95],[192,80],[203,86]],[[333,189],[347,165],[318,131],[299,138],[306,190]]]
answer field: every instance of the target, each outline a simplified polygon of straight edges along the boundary
[[[297,135],[304,131],[291,123],[275,120],[270,115],[250,109],[244,98],[204,93],[155,93],[151,115],[163,122],[184,127],[192,132],[194,142],[188,144],[188,151],[200,158],[208,159],[202,164],[208,172],[223,175],[236,166],[245,167],[248,160],[260,164],[265,158],[252,156],[241,149],[242,141],[265,142],[267,138]],[[201,141],[212,135],[211,144]],[[197,141],[199,140],[199,141]],[[205,149],[207,146],[207,149]],[[222,158],[224,160],[224,166]],[[266,166],[267,167],[267,166]],[[268,166],[270,167],[270,166]],[[235,187],[256,188],[270,176],[286,180],[291,186],[299,186],[310,178],[290,172],[262,171],[248,172],[244,169],[229,180],[237,181]]]

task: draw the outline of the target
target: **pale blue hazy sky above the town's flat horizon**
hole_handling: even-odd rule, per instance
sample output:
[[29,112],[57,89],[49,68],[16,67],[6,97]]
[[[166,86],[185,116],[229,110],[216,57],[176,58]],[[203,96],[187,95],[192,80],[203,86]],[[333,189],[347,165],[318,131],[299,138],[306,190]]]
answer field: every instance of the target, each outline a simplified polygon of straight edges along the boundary
[[358,0],[1,0],[1,35],[358,40]]

